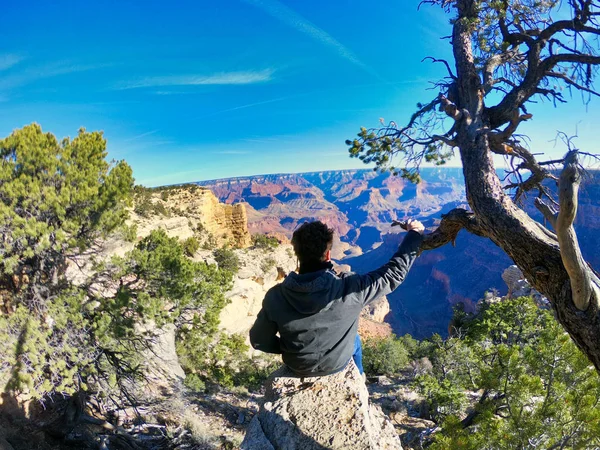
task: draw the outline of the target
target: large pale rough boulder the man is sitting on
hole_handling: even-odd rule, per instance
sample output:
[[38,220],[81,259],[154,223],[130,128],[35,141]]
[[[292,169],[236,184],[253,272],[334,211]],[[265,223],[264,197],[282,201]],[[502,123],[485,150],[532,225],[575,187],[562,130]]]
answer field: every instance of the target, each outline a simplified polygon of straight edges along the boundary
[[242,450],[402,450],[393,425],[351,361],[326,377],[300,378],[277,370],[250,422]]

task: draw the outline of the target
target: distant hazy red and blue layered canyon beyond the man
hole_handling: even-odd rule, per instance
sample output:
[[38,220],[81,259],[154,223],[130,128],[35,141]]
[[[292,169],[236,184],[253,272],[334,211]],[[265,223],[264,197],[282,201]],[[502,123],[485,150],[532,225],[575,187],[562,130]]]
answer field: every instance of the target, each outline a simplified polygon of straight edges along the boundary
[[[322,220],[336,234],[333,257],[355,272],[384,264],[403,233],[393,220],[421,220],[432,230],[441,215],[468,207],[459,168],[426,168],[422,181],[371,170],[275,174],[199,182],[226,204],[246,206],[248,229],[289,239],[307,220]],[[552,188],[552,186],[550,186]],[[523,208],[542,221],[533,196]],[[576,220],[582,251],[600,266],[600,175],[590,171],[580,192]],[[487,291],[506,294],[502,272],[512,261],[491,241],[461,232],[454,246],[423,253],[405,282],[388,296],[385,321],[396,334],[423,338],[447,334],[453,307],[474,310]]]

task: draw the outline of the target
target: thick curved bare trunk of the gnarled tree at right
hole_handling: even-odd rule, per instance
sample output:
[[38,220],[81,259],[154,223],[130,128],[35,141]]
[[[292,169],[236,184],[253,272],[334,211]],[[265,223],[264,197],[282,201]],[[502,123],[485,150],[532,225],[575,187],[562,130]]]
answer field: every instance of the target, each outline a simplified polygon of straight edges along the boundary
[[[458,122],[457,144],[463,165],[467,200],[483,234],[502,248],[532,286],[550,300],[558,321],[600,372],[600,316],[597,302],[579,310],[556,236],[534,221],[504,193],[496,174],[489,142],[489,120],[484,117],[483,87],[473,77],[475,65],[468,29],[472,0],[459,0],[453,50],[458,84],[457,105],[470,120]],[[476,72],[475,72],[476,73]],[[479,103],[477,103],[477,100]]]

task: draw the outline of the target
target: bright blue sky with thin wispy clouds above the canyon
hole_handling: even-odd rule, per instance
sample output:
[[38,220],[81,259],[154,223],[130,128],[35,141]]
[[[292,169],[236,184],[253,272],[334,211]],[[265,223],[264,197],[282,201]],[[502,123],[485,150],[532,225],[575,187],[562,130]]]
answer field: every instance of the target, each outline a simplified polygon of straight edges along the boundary
[[[405,122],[444,75],[421,60],[448,57],[448,17],[418,3],[6,2],[0,136],[31,122],[104,130],[148,186],[363,168],[344,140]],[[520,131],[551,156],[559,129],[597,152],[598,104],[535,105]]]

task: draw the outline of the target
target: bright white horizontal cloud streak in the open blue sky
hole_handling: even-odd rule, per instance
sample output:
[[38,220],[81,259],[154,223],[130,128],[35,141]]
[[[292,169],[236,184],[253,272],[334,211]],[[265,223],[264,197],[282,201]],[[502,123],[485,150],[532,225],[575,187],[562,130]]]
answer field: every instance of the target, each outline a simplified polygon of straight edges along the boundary
[[[211,75],[171,75],[146,77],[137,81],[124,83],[118,89],[135,89],[164,86],[202,86],[264,83],[273,79],[273,69],[244,72],[221,72]],[[158,91],[164,92],[164,91]]]

